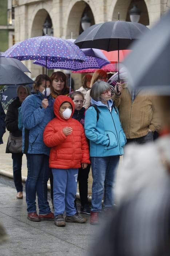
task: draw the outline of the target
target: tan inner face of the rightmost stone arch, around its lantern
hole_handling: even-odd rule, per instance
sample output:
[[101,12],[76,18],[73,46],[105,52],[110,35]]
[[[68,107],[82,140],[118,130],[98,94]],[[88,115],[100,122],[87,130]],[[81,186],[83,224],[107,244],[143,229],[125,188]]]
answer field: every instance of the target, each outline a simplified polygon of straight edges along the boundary
[[130,21],[129,10],[133,4],[136,4],[141,10],[141,18],[139,23],[149,25],[148,3],[145,0],[117,0],[112,8],[112,20],[118,20],[118,12],[120,13],[120,20]]

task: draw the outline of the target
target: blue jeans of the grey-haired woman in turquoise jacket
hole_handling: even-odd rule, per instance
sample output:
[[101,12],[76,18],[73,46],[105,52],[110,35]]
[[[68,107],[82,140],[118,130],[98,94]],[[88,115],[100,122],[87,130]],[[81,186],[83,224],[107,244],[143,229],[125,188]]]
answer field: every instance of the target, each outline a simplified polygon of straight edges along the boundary
[[102,210],[104,193],[104,208],[113,206],[112,187],[114,183],[115,168],[119,163],[119,155],[111,157],[91,157],[91,170],[93,177],[91,211]]

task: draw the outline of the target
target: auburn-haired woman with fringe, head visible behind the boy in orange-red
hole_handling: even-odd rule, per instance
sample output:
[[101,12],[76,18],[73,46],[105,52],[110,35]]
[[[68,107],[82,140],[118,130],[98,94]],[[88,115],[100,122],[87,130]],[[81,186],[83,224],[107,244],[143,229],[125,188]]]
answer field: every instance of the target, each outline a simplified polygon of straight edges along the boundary
[[69,95],[69,87],[67,86],[67,77],[61,72],[53,72],[51,75],[52,85],[51,85],[51,96],[56,99],[59,95]]

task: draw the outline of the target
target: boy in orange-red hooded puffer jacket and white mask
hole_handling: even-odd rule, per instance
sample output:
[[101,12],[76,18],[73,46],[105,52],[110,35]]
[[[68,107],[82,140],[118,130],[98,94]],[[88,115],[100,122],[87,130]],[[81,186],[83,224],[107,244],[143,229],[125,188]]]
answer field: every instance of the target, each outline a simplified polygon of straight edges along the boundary
[[[44,129],[43,139],[51,147],[49,164],[54,177],[55,225],[64,227],[66,222],[84,223],[87,219],[76,214],[74,206],[77,191],[78,169],[90,163],[84,129],[72,118],[74,102],[60,95],[54,102],[55,118]],[[64,211],[66,219],[64,221]]]

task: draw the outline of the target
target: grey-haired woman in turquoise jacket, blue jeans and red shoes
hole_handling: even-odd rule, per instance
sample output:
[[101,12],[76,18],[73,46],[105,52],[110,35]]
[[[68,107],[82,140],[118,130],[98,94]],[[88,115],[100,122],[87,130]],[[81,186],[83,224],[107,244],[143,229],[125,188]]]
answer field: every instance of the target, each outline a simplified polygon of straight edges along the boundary
[[104,209],[113,206],[112,186],[126,136],[119,120],[118,109],[111,100],[110,85],[104,81],[91,87],[91,106],[85,115],[85,134],[90,140],[92,168],[92,207],[90,224],[99,223],[104,191]]

